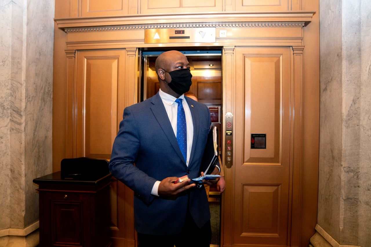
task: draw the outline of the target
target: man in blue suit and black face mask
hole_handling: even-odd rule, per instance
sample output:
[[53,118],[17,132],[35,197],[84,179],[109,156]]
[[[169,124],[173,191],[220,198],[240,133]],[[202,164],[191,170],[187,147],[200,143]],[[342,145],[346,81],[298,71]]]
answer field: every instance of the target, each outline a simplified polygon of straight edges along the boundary
[[[125,108],[109,169],[135,192],[140,247],[209,246],[210,210],[204,187],[197,188],[190,179],[174,183],[184,175],[200,175],[211,125],[209,109],[183,95],[192,75],[181,52],[162,53],[155,69],[160,91]],[[213,174],[217,173],[216,168]]]

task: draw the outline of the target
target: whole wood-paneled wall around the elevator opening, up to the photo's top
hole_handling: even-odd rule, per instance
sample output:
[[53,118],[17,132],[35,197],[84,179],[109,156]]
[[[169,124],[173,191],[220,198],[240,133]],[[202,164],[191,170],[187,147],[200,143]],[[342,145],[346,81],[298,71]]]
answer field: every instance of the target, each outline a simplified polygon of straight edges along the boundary
[[[195,77],[191,90],[237,120],[233,166],[224,167],[223,246],[308,246],[318,190],[318,10],[318,0],[56,0],[53,171],[62,158],[109,159],[123,109],[139,101],[140,49],[221,48],[221,80]],[[216,42],[144,43],[144,29],[178,27],[215,27]],[[221,98],[203,88],[221,88],[213,92]],[[248,148],[250,132],[263,127],[269,148]],[[112,182],[112,239],[135,246],[132,191]]]

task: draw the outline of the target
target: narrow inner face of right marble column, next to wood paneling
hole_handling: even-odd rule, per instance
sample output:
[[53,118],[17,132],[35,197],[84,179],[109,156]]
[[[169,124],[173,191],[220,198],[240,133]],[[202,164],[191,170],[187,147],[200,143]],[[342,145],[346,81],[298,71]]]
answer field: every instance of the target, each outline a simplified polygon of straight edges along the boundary
[[318,224],[340,237],[342,134],[341,3],[320,1]]

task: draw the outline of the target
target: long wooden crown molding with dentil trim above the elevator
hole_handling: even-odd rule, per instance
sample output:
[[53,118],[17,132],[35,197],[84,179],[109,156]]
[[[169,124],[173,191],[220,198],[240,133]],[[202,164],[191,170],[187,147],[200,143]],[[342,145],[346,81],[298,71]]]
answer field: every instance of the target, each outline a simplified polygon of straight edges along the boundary
[[137,14],[55,19],[55,22],[66,32],[203,26],[302,27],[311,22],[313,14],[313,11]]

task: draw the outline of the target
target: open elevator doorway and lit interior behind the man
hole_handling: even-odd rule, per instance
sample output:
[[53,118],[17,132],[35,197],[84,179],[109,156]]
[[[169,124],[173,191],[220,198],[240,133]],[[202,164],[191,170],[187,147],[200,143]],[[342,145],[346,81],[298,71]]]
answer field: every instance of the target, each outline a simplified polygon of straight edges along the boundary
[[[171,50],[171,49],[169,49]],[[140,101],[154,96],[160,89],[155,71],[156,58],[166,50],[141,52],[141,87]],[[210,109],[211,125],[219,128],[219,143],[223,123],[222,105],[222,62],[221,49],[218,50],[179,50],[187,56],[192,74],[192,85],[189,92],[196,95],[198,102],[204,103]],[[219,153],[223,148],[220,145]],[[211,213],[211,246],[220,246],[220,208],[221,195],[216,185],[210,187],[209,205]]]

